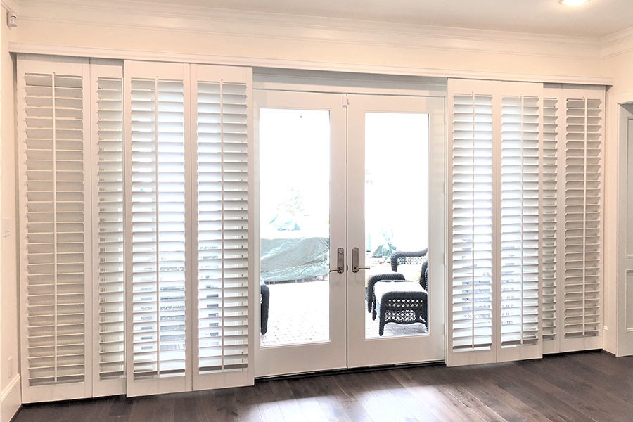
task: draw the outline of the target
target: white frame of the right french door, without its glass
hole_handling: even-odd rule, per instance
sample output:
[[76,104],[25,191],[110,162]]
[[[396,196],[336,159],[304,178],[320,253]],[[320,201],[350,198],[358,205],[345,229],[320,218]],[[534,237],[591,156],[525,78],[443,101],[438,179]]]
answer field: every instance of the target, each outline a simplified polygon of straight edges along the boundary
[[[350,95],[347,110],[347,253],[364,251],[365,113],[424,113],[428,123],[429,334],[365,338],[365,271],[347,272],[347,366],[445,359],[445,99]],[[406,151],[403,151],[406,153]],[[432,199],[432,200],[431,200]],[[397,198],[393,207],[397,207]],[[366,267],[364,253],[359,267]],[[351,256],[351,255],[348,255]]]

